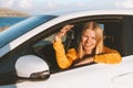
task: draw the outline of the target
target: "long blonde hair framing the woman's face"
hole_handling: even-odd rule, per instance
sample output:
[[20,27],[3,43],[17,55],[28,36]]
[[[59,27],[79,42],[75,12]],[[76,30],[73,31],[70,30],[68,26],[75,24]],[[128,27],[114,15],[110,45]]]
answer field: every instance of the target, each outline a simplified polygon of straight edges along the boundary
[[[95,48],[93,50],[94,54],[103,53],[103,30],[101,29],[101,26],[96,22],[91,21],[84,25],[82,34],[85,32],[85,30],[92,30],[95,33],[96,45]],[[78,55],[79,58],[82,58],[84,55],[82,42],[80,42],[79,44]]]

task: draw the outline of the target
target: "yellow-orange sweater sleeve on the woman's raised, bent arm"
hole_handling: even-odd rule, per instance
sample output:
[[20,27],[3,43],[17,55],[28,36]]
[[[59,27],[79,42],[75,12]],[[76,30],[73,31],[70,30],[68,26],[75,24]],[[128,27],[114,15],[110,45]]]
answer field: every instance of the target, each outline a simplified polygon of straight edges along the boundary
[[61,40],[53,43],[53,48],[55,50],[57,62],[60,68],[70,67],[76,58],[76,52],[74,48],[69,50],[65,54]]

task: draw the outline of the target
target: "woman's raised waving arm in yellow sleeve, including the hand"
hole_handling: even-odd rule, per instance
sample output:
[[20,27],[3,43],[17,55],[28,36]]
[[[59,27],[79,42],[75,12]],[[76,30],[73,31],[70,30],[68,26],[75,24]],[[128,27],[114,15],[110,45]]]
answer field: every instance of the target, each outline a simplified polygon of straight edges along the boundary
[[74,58],[76,58],[75,50],[71,50],[65,54],[64,46],[61,42],[62,36],[71,30],[73,25],[65,25],[57,33],[53,42],[53,48],[55,50],[57,62],[60,68],[68,68],[72,65]]

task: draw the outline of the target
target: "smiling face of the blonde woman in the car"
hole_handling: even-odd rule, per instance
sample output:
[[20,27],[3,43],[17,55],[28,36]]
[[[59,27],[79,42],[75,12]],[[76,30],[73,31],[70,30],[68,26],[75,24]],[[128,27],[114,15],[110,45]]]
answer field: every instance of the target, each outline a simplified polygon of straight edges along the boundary
[[96,45],[95,33],[92,30],[85,30],[82,34],[82,45],[86,54],[91,54]]

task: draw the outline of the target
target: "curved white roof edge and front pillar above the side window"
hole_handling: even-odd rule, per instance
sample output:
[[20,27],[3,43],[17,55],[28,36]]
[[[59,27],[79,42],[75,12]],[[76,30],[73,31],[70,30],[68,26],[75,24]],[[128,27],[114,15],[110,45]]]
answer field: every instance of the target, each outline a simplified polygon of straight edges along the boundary
[[[75,13],[70,13],[70,14],[65,14],[65,15],[60,15],[59,18],[55,18],[51,21],[43,23],[42,25],[40,25],[40,26],[35,28],[34,30],[21,35],[17,40],[14,40],[14,41],[10,42],[9,44],[7,44],[6,46],[3,46],[0,50],[0,57],[2,57],[9,51],[12,51],[13,48],[16,48],[21,43],[29,40],[30,37],[34,36],[35,34],[41,33],[45,29],[49,29],[50,26],[53,26],[58,23],[61,23],[63,21],[74,19],[74,18],[82,18],[82,16],[86,16],[86,15],[88,16],[89,15],[104,15],[104,14],[129,14],[129,15],[131,14],[131,15],[133,15],[133,11],[132,10],[95,10],[95,11],[83,11],[83,12],[75,12]],[[10,47],[10,50],[7,50],[9,47]]]

